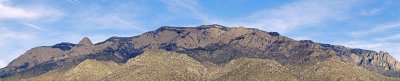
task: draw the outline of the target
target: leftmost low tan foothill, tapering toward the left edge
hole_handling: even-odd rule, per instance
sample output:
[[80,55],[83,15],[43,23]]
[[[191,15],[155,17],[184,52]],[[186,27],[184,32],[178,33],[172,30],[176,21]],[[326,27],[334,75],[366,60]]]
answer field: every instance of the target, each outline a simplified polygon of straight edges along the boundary
[[8,80],[26,81],[97,81],[111,74],[119,68],[119,65],[112,61],[97,61],[88,59],[81,62],[72,69],[59,68],[51,70],[40,76],[21,79],[18,77]]

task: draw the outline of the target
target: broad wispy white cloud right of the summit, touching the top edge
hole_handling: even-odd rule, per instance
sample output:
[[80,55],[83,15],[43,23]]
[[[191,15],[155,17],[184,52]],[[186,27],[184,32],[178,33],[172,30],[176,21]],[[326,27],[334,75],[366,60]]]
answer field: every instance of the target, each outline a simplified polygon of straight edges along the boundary
[[322,24],[329,20],[341,20],[357,0],[299,0],[276,9],[265,9],[252,14],[251,24],[265,30],[286,32],[298,27]]

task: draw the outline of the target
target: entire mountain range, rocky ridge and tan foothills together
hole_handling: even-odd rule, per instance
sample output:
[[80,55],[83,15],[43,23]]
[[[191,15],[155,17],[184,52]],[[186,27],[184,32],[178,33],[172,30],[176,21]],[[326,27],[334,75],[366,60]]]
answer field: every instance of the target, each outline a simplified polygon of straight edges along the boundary
[[399,81],[387,52],[294,40],[255,28],[163,26],[93,44],[32,48],[0,81]]

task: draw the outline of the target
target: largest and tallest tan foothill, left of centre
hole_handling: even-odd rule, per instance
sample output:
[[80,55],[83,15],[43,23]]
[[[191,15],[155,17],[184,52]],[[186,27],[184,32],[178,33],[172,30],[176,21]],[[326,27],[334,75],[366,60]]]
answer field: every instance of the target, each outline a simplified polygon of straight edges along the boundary
[[111,81],[205,81],[206,69],[185,54],[154,51],[131,59],[104,80]]

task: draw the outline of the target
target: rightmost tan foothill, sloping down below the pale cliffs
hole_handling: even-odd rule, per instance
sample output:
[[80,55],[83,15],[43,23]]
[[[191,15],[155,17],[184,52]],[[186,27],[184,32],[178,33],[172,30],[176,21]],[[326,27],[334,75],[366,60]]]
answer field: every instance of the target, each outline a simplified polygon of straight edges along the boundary
[[329,59],[305,69],[299,69],[304,81],[396,81],[373,73],[362,67],[345,64],[339,60]]

